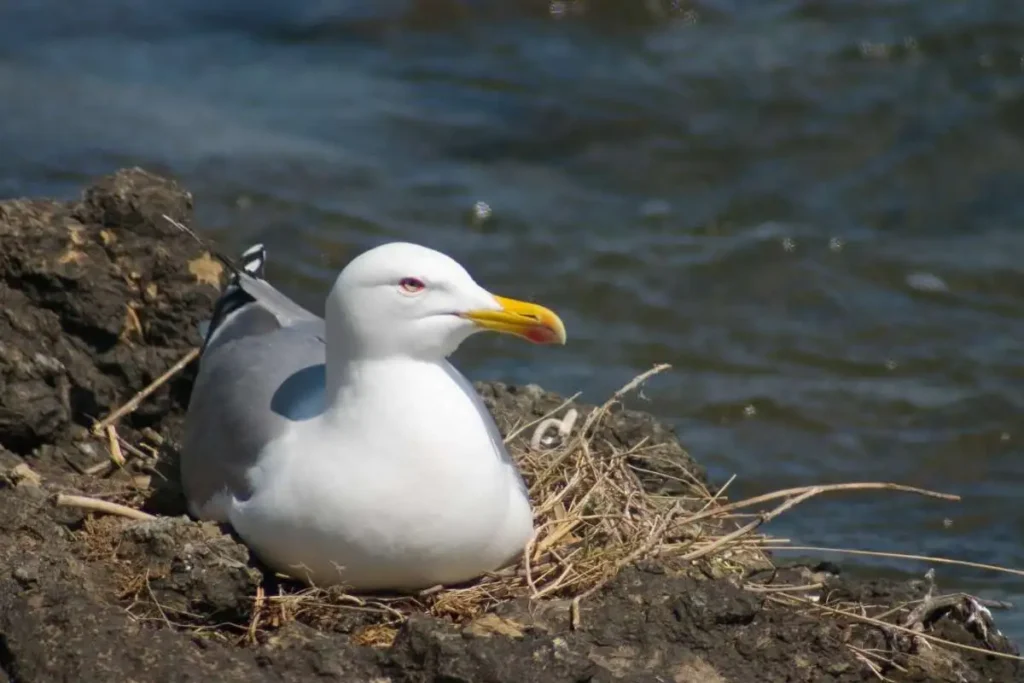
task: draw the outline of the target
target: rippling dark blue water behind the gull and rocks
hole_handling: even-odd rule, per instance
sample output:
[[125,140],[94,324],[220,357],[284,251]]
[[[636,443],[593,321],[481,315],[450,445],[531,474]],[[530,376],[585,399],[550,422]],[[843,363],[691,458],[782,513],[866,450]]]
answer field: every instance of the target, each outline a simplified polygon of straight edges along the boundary
[[173,173],[314,309],[370,245],[439,248],[569,330],[474,339],[473,377],[596,401],[671,362],[636,404],[733,496],[965,499],[812,501],[775,533],[1024,568],[1022,32],[996,0],[2,3],[0,196]]

